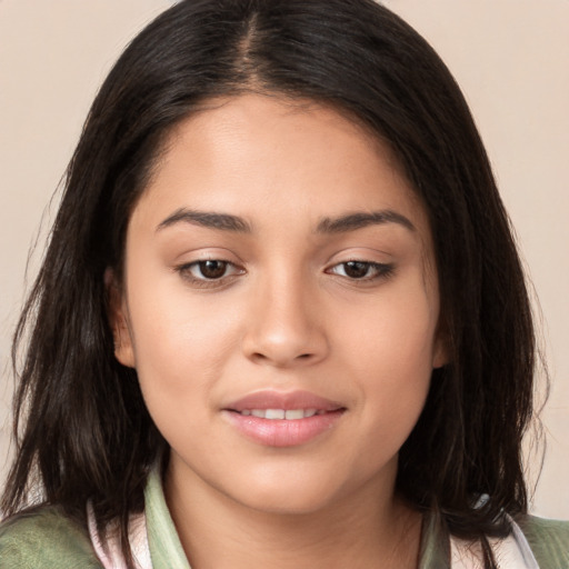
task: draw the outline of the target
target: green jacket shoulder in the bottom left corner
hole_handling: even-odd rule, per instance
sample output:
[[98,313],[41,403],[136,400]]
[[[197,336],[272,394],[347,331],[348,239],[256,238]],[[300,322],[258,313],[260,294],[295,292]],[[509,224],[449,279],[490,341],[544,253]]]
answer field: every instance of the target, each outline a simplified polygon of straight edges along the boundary
[[89,536],[59,508],[41,507],[0,523],[2,569],[100,569]]

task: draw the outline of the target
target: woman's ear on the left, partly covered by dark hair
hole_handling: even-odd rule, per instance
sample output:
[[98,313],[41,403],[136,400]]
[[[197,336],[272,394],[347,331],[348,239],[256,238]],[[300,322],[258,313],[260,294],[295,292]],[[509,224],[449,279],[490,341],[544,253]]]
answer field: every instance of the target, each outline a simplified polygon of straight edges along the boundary
[[122,287],[117,282],[114,271],[110,267],[104,271],[104,288],[107,290],[107,317],[114,340],[114,357],[123,366],[134,368],[134,350],[127,302]]

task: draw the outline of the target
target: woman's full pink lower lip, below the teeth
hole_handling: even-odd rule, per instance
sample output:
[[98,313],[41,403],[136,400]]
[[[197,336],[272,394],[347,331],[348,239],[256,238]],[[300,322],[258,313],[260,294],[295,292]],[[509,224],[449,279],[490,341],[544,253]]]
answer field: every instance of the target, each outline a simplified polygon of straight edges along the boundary
[[237,430],[267,447],[296,447],[311,441],[335,427],[343,409],[315,415],[306,419],[261,419],[234,411],[223,411]]

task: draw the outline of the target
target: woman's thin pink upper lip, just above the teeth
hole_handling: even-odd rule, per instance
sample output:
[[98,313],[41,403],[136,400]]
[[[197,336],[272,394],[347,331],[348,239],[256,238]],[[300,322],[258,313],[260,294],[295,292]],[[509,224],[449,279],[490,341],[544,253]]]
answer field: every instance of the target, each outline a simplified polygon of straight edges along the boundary
[[256,391],[223,407],[227,410],[241,412],[246,409],[316,409],[318,411],[336,411],[343,406],[319,397],[310,391]]

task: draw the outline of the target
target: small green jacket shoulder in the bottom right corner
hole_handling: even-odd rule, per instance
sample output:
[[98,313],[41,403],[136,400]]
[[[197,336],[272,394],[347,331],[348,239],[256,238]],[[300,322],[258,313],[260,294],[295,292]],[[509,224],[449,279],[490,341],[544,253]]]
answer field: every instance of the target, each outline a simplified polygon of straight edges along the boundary
[[569,567],[569,521],[548,520],[535,516],[516,518],[539,567]]

